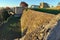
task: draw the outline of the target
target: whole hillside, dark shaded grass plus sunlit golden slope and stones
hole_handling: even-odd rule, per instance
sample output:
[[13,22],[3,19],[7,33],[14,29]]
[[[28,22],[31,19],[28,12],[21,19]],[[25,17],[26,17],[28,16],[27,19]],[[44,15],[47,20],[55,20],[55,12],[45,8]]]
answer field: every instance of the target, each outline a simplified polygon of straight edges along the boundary
[[46,40],[59,19],[60,14],[24,10],[20,18],[12,15],[0,24],[0,40],[18,40],[21,35],[21,40]]

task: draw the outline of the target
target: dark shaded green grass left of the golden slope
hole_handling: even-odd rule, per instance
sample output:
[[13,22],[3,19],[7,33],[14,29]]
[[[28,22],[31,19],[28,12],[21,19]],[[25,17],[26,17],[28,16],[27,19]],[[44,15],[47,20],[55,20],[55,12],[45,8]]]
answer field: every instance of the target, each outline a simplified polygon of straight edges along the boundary
[[10,16],[0,25],[0,40],[12,40],[20,35],[20,18]]

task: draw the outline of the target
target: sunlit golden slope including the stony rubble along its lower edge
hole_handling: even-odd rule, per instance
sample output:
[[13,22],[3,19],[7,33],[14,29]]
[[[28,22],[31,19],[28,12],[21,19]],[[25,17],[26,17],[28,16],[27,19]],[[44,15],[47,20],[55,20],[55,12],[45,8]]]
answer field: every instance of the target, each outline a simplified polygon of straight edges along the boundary
[[33,10],[24,11],[21,17],[21,31],[24,36],[21,40],[45,40],[50,28],[57,22],[57,16]]

